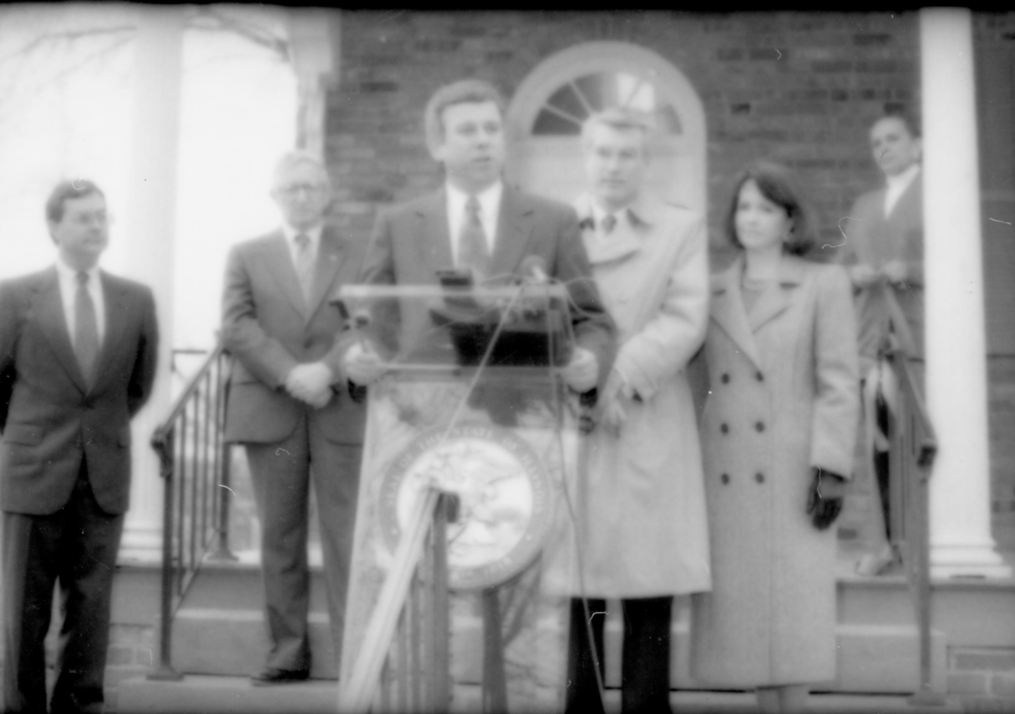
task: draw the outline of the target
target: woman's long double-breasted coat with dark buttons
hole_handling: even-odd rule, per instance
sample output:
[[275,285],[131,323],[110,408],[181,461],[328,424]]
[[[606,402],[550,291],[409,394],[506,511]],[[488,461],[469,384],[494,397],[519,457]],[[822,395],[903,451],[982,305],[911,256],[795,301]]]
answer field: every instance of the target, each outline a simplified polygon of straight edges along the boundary
[[842,268],[784,257],[748,314],[743,259],[712,283],[701,422],[713,591],[692,598],[692,673],[757,687],[835,676],[835,528],[806,512],[821,467],[849,477],[859,409]]

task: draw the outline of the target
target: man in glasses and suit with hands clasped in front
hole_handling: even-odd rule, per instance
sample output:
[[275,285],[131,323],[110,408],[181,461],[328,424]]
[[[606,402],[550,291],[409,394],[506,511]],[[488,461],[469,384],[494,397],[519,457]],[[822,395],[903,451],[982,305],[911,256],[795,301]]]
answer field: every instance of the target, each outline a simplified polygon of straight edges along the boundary
[[316,155],[282,157],[272,197],[282,227],[233,247],[222,298],[222,338],[235,357],[225,436],[246,446],[262,524],[271,648],[252,677],[259,686],[310,675],[312,479],[332,637],[341,654],[363,435],[363,407],[352,399],[341,364],[351,333],[328,301],[358,274],[361,244],[325,225],[331,185]]

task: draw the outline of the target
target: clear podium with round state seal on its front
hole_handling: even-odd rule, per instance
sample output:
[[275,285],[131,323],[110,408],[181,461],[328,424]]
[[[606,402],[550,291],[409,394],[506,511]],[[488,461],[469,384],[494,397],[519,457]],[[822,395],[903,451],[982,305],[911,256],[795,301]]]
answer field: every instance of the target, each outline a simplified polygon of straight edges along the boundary
[[453,692],[475,698],[459,709],[562,710],[566,288],[352,285],[337,301],[387,363],[366,397],[339,710],[443,712]]

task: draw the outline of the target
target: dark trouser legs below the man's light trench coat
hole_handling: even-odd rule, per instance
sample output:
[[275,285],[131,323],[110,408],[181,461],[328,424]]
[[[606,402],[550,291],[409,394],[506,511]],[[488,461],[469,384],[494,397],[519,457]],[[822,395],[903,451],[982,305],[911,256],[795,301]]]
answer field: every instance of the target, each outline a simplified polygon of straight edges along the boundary
[[[590,599],[587,621],[581,599],[571,600],[570,639],[567,651],[568,714],[602,714],[596,669],[589,645],[589,630],[605,679],[603,625],[606,600]],[[669,714],[670,627],[673,597],[638,597],[621,600],[624,614],[623,655],[620,665],[620,711],[624,714]]]

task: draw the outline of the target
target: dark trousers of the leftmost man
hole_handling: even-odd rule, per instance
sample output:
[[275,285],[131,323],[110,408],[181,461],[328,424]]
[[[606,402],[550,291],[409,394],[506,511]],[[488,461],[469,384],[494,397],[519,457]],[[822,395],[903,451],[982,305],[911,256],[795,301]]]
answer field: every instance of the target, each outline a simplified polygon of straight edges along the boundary
[[46,633],[59,582],[63,627],[51,711],[100,712],[110,596],[123,514],[99,508],[81,469],[70,500],[51,515],[3,514],[4,702],[46,712]]

